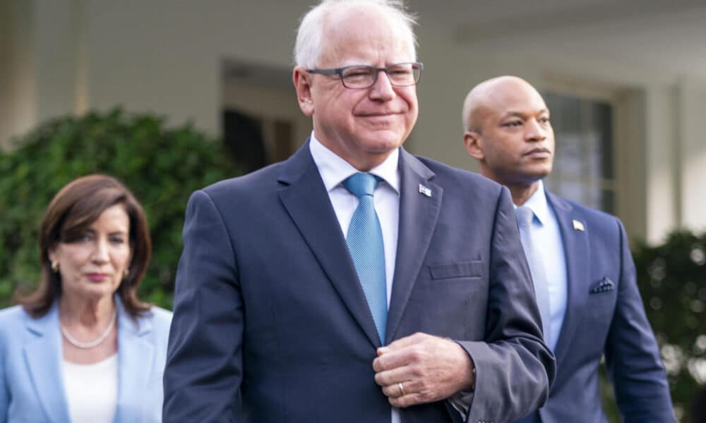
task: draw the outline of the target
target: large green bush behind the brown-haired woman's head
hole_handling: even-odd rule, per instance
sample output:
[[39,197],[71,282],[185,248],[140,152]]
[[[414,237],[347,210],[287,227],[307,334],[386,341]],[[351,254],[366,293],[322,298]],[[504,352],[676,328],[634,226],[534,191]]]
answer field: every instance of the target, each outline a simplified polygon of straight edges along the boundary
[[106,173],[147,214],[152,262],[140,299],[171,309],[189,195],[238,173],[222,143],[191,125],[167,128],[159,116],[121,109],[57,118],[13,143],[0,152],[0,306],[40,279],[39,227],[52,197],[78,176]]

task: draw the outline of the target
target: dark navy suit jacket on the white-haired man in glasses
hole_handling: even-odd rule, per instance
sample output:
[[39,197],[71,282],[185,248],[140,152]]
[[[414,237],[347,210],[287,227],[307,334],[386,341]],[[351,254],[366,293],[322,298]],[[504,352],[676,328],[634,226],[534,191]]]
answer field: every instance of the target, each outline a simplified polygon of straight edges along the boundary
[[[469,421],[526,415],[544,402],[554,359],[508,190],[404,149],[399,168],[386,343],[417,331],[457,340],[477,368]],[[287,161],[193,193],[165,422],[390,423],[372,367],[379,346],[308,142]],[[405,423],[453,414],[445,401],[401,411]]]

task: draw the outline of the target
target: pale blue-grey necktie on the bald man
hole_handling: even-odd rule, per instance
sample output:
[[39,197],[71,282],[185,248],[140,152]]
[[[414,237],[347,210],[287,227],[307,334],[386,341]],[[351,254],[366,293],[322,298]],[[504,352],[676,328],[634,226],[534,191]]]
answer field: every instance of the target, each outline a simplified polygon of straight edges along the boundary
[[515,209],[517,215],[517,226],[520,226],[520,240],[522,241],[522,249],[525,250],[527,264],[530,264],[530,272],[532,273],[532,281],[534,282],[534,295],[537,297],[537,307],[539,314],[542,317],[542,327],[544,327],[544,342],[546,345],[554,345],[551,343],[550,330],[550,311],[549,311],[549,286],[546,280],[546,271],[544,262],[542,262],[541,245],[532,240],[532,220],[534,212],[527,206],[517,207]]

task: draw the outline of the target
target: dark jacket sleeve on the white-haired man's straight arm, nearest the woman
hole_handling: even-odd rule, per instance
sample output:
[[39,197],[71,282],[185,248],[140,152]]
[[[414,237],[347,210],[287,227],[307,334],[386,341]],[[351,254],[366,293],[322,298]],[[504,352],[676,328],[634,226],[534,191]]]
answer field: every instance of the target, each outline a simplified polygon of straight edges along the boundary
[[164,422],[237,422],[244,309],[220,211],[191,195],[164,369]]

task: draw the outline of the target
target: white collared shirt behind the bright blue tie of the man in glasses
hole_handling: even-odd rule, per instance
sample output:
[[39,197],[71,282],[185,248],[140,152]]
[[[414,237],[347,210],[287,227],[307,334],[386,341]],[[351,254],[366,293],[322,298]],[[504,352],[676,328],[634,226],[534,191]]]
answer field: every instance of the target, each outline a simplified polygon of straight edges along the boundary
[[[321,144],[313,132],[309,141],[309,151],[311,151],[311,157],[318,168],[318,173],[321,174],[323,185],[328,192],[328,198],[333,205],[333,211],[341,226],[341,231],[344,236],[347,236],[348,226],[353,217],[353,212],[358,207],[359,200],[342,185],[342,182],[359,171]],[[393,292],[395,258],[397,257],[397,231],[399,230],[400,222],[400,173],[397,170],[399,158],[400,150],[395,149],[383,163],[369,171],[369,173],[382,179],[373,194],[373,203],[383,231],[388,309],[390,309],[390,295]],[[372,367],[373,362],[370,362],[370,365]],[[390,423],[400,423],[400,410],[396,407],[392,409]]]

